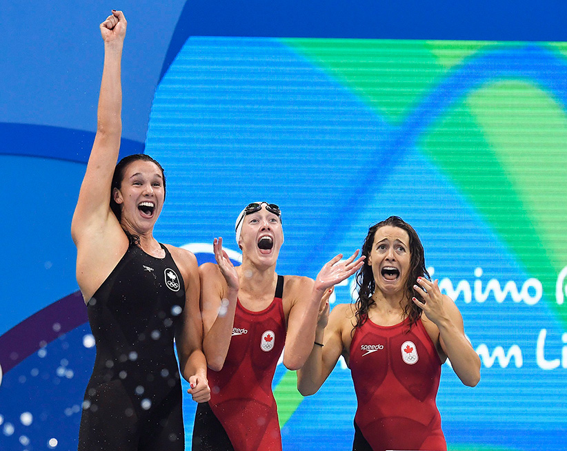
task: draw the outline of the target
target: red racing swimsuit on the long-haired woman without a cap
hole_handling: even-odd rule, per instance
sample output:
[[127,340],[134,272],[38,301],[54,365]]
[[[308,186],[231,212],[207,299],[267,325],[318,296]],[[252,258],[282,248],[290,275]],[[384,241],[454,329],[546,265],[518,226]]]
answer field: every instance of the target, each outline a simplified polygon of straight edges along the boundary
[[446,451],[435,397],[441,359],[421,318],[378,326],[367,319],[350,344],[355,423],[373,451]]

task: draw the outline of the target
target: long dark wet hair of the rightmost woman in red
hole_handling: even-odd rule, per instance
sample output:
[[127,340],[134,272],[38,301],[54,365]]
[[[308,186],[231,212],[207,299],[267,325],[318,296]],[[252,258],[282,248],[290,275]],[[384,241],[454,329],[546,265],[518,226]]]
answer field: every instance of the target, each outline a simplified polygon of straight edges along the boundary
[[[410,226],[410,224],[399,218],[399,216],[390,216],[390,218],[373,225],[370,229],[368,229],[368,235],[366,235],[364,243],[362,244],[362,255],[366,255],[366,262],[364,262],[364,265],[361,269],[359,269],[357,274],[357,286],[359,292],[358,300],[355,304],[355,328],[362,326],[362,324],[366,322],[366,319],[368,319],[368,310],[370,309],[370,306],[375,303],[374,300],[372,300],[372,295],[376,289],[374,274],[372,273],[372,266],[370,266],[367,262],[370,252],[372,251],[372,244],[374,244],[376,231],[385,226],[403,229],[408,233],[410,238],[410,273],[404,289],[406,297],[411,298],[412,296],[415,296],[418,300],[422,301],[419,293],[415,293],[413,286],[416,283],[417,277],[427,277],[430,279],[425,266],[424,247],[419,240],[417,232]],[[419,308],[415,302],[412,302],[411,300],[402,307],[404,308],[404,318],[410,319],[409,326],[411,328],[417,322],[419,317],[421,317],[421,308]]]

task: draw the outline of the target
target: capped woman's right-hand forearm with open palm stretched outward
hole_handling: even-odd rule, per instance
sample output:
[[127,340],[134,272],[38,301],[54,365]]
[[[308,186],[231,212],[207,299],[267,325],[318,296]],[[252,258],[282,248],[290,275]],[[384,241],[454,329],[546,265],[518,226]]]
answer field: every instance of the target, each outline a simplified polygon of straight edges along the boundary
[[[357,260],[358,251],[348,260],[340,262],[342,254],[337,255],[323,266],[315,283],[305,278],[299,287],[297,301],[292,304],[288,317],[284,365],[290,370],[297,370],[304,365],[312,352],[315,339],[317,315],[326,290],[350,277],[364,264],[364,257]],[[310,293],[307,295],[307,293]]]

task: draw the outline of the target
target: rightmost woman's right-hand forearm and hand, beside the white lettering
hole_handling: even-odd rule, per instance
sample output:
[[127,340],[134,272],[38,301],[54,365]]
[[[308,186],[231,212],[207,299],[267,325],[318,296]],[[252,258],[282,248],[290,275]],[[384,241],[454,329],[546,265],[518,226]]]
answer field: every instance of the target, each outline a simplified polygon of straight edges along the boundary
[[439,344],[455,374],[463,384],[474,387],[480,380],[480,358],[465,336],[459,308],[450,297],[441,295],[437,280],[430,282],[422,277],[417,283],[415,289],[426,302],[419,302],[415,297],[413,302],[423,308],[426,317],[439,328]]

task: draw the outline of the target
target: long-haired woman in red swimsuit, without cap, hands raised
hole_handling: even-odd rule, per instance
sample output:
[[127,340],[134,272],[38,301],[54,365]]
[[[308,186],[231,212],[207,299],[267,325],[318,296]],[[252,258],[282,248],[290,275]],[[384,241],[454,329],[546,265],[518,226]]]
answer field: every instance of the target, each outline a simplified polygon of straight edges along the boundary
[[370,227],[357,275],[356,304],[322,306],[315,346],[298,374],[312,395],[342,355],[357,394],[352,450],[447,449],[435,397],[441,364],[450,359],[467,386],[480,379],[480,359],[463,319],[425,266],[424,248],[397,216]]

